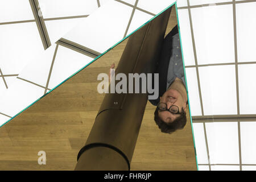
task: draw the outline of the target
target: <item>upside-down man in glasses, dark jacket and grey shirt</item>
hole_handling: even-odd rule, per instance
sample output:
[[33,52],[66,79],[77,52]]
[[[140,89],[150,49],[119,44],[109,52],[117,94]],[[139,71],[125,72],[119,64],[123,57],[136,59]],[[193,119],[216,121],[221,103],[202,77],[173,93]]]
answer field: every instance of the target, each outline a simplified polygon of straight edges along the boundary
[[177,26],[164,38],[156,73],[159,73],[159,97],[149,101],[157,106],[156,125],[163,133],[170,134],[183,129],[187,122],[188,98]]

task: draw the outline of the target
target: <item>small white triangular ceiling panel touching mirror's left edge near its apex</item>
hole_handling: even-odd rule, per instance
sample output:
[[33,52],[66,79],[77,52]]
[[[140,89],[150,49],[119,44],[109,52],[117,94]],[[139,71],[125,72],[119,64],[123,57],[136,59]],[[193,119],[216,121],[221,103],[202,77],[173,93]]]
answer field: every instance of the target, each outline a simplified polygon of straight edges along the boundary
[[154,17],[154,16],[144,13],[139,10],[135,10],[133,19],[131,20],[129,30],[127,31],[127,35],[131,34],[133,31],[137,30],[137,28],[141,27],[144,23],[146,23],[152,17]]

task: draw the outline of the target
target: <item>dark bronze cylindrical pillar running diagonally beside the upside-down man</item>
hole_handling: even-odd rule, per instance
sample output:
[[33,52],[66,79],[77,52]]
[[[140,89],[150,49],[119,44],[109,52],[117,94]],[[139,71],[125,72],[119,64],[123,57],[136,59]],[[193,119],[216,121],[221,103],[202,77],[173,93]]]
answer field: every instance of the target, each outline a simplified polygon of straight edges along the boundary
[[[170,13],[171,8],[130,36],[116,75],[154,73]],[[106,94],[75,169],[129,170],[146,104],[147,93]]]

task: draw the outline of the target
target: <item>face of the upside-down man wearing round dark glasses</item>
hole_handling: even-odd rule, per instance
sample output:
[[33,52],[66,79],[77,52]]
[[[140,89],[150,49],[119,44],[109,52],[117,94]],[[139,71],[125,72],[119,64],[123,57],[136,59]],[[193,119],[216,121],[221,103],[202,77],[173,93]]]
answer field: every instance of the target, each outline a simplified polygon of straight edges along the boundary
[[[162,97],[160,97],[160,102],[166,103],[167,109],[169,109],[172,105],[179,107],[179,113],[183,108],[186,111],[186,103],[181,94],[175,89],[168,89]],[[180,114],[173,114],[170,111],[160,111],[158,110],[159,118],[166,123],[173,122]]]

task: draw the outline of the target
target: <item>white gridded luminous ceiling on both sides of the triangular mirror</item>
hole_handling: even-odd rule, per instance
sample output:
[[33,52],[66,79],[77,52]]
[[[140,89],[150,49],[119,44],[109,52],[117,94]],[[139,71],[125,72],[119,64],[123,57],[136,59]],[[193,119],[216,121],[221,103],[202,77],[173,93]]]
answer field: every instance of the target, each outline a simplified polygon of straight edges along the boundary
[[[74,50],[104,53],[175,2],[148,1],[38,0],[39,19],[27,0],[1,1],[0,125],[97,57]],[[199,170],[256,169],[255,9],[256,0],[177,0]]]

